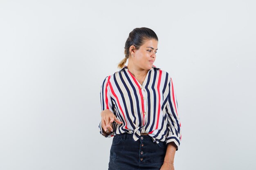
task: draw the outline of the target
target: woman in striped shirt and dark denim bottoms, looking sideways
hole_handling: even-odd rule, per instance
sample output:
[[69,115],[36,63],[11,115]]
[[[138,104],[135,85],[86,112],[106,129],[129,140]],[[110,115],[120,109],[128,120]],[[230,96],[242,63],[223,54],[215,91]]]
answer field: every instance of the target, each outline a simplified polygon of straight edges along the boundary
[[100,132],[114,136],[109,170],[174,170],[181,124],[172,79],[153,65],[157,44],[153,30],[134,29],[121,70],[101,86]]

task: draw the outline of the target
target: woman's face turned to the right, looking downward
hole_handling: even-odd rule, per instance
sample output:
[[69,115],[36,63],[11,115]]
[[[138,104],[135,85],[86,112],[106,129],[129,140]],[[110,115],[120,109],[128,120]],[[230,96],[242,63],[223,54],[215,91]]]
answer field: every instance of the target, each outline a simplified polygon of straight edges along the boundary
[[132,53],[133,64],[138,68],[150,70],[155,62],[158,41],[155,39],[145,40],[139,49],[135,49]]

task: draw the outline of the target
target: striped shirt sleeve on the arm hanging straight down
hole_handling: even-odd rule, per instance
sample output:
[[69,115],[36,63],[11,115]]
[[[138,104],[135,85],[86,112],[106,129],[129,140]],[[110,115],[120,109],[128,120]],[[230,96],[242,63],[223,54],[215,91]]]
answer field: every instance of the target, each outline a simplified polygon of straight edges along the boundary
[[174,142],[176,150],[178,150],[181,141],[181,123],[178,115],[178,104],[176,94],[173,87],[173,81],[170,78],[168,84],[168,101],[166,105],[168,136],[166,143]]

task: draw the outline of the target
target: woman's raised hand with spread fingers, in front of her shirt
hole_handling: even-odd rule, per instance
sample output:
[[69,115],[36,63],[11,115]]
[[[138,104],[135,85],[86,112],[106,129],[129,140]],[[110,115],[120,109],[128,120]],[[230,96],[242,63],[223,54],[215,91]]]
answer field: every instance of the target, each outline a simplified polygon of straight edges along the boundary
[[101,127],[105,132],[107,132],[107,129],[113,132],[113,121],[115,121],[117,124],[123,123],[120,120],[118,120],[117,117],[115,117],[115,115],[110,110],[106,109],[101,112]]

